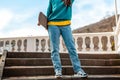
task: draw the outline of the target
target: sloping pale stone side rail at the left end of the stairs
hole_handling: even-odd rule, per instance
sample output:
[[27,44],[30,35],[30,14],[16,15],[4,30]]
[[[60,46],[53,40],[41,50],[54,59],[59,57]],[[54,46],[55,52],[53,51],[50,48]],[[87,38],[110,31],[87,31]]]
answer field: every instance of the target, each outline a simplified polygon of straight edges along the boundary
[[3,75],[3,69],[4,69],[4,65],[5,65],[6,55],[7,55],[7,50],[5,50],[3,52],[3,55],[2,55],[2,57],[0,59],[0,80],[2,80],[2,75]]

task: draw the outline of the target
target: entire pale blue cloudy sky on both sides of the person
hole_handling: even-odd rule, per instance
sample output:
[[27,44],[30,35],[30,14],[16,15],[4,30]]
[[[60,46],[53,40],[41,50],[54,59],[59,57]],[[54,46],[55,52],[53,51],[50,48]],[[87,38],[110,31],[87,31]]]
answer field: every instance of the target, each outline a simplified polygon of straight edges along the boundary
[[[46,15],[49,0],[0,0],[0,38],[46,36],[47,30],[37,26],[38,14]],[[117,0],[120,13],[120,0]],[[75,0],[72,30],[115,14],[114,0]]]

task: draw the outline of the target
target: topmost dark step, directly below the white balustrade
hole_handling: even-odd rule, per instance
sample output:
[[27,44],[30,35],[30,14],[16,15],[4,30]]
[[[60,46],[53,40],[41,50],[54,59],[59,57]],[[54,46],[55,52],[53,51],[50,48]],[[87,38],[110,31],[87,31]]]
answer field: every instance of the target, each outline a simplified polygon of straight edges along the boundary
[[[8,58],[50,58],[50,53],[8,52]],[[80,59],[120,59],[120,54],[78,54]],[[61,58],[69,58],[68,53],[60,53]]]

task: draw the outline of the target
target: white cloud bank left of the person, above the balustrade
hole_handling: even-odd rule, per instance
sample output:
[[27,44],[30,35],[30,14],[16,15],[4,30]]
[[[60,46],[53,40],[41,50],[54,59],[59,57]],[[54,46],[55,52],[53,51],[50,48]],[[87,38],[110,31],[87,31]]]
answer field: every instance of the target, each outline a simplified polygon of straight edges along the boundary
[[[2,9],[0,11],[0,30],[4,27],[10,28],[9,31],[0,32],[0,37],[22,37],[22,36],[43,36],[47,35],[47,31],[41,27],[35,27],[36,24],[30,23],[30,18],[34,15],[33,11],[24,11],[21,13],[12,13],[9,10]],[[37,19],[36,19],[37,20]],[[27,22],[26,22],[27,21]],[[12,26],[10,25],[12,22]],[[9,24],[10,23],[10,24]],[[36,22],[37,23],[37,22]],[[41,32],[40,32],[41,31]]]

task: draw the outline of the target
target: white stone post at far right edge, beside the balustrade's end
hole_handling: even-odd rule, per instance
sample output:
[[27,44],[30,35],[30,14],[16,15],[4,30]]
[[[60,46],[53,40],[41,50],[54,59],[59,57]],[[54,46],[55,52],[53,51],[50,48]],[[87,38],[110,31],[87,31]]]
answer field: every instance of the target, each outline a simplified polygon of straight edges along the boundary
[[117,49],[117,52],[120,53],[120,17],[119,17],[119,20],[118,20],[118,23],[115,29],[115,36],[116,36],[115,37],[116,49]]

